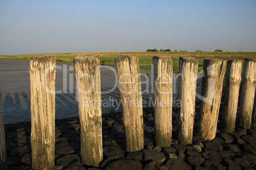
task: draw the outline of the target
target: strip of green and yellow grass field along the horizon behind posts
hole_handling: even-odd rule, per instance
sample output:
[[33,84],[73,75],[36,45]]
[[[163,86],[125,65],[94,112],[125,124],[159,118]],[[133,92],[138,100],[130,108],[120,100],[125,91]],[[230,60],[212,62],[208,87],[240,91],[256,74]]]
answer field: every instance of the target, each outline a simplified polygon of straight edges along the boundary
[[256,58],[256,52],[190,52],[190,51],[158,51],[158,52],[95,52],[95,53],[47,53],[47,54],[28,54],[28,55],[13,55],[0,56],[0,58],[10,59],[26,59],[29,60],[31,56],[56,56],[56,61],[60,63],[72,63],[76,56],[93,55],[99,56],[102,65],[115,65],[115,57],[118,55],[129,55],[139,57],[139,67],[144,69],[151,69],[153,56],[172,56],[173,70],[178,72],[180,57],[194,57],[199,60],[198,70],[203,70],[204,58],[218,58],[223,60],[244,60],[245,58]]

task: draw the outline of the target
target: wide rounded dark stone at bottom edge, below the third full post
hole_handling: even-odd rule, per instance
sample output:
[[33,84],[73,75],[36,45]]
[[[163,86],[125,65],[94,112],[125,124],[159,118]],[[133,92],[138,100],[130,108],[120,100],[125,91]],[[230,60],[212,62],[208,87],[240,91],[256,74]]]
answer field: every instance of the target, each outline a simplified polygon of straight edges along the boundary
[[121,159],[115,162],[111,162],[106,166],[106,170],[127,170],[127,169],[134,169],[134,170],[143,170],[141,162],[138,160],[131,160],[131,159]]

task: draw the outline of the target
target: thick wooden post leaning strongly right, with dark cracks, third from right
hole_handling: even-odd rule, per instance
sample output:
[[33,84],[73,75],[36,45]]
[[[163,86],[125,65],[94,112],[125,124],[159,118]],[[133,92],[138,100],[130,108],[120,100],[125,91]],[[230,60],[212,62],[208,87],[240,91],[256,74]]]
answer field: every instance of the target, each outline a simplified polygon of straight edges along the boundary
[[217,132],[220,100],[227,61],[204,59],[201,106],[199,110],[199,136],[213,140]]

